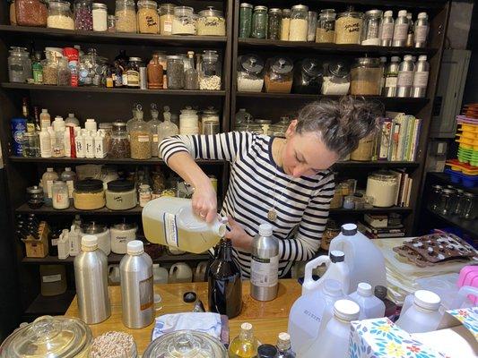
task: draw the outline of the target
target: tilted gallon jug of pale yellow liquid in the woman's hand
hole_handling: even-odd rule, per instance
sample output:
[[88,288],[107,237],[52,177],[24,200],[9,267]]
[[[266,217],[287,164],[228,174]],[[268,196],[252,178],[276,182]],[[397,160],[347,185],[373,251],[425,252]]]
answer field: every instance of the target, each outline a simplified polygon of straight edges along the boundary
[[[193,212],[190,199],[161,197],[143,208],[146,239],[179,250],[201,253],[219,242],[226,233],[223,220],[210,224]],[[227,220],[227,219],[226,219]]]

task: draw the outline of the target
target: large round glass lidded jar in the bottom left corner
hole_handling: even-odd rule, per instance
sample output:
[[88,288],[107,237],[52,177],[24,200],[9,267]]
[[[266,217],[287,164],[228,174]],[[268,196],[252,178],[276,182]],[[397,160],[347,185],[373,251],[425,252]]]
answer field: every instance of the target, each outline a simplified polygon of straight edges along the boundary
[[91,339],[91,329],[82,320],[42,316],[7,337],[0,357],[88,358]]

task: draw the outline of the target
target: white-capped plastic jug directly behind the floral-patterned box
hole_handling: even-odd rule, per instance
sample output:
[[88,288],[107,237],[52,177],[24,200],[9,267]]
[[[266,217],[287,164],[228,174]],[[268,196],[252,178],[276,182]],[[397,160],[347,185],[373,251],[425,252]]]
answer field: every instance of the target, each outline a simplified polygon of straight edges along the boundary
[[413,294],[413,303],[407,297],[396,325],[408,333],[423,333],[439,327],[439,295],[431,291],[418,290]]

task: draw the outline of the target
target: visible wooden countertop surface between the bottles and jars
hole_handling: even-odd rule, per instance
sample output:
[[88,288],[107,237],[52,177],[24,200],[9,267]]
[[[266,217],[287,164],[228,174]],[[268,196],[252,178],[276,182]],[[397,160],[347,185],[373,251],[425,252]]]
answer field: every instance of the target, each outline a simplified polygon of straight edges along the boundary
[[[240,324],[250,322],[256,337],[263,343],[275,344],[277,335],[287,331],[289,311],[295,300],[300,296],[301,286],[295,279],[282,279],[279,281],[279,294],[274,301],[258,302],[249,294],[249,282],[242,285],[243,307],[240,315],[230,320],[230,339],[239,334]],[[188,291],[196,292],[207,309],[207,282],[187,284],[155,285],[154,293],[161,294],[161,303],[156,304],[156,316],[166,313],[192,311],[194,303],[185,303],[183,294]],[[121,290],[119,286],[110,286],[111,316],[96,325],[90,325],[93,337],[100,336],[109,330],[127,332],[135,337],[138,353],[143,354],[151,340],[153,324],[142,329],[130,329],[123,325],[121,320]],[[79,317],[76,298],[66,311],[65,316]]]

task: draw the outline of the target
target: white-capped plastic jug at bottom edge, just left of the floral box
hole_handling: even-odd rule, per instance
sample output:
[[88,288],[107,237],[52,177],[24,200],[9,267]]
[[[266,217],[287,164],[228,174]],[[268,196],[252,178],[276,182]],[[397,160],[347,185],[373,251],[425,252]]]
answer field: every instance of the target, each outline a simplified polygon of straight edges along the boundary
[[300,358],[343,358],[348,357],[352,320],[359,318],[360,307],[350,300],[339,300],[334,304],[334,317],[326,330],[309,350]]

